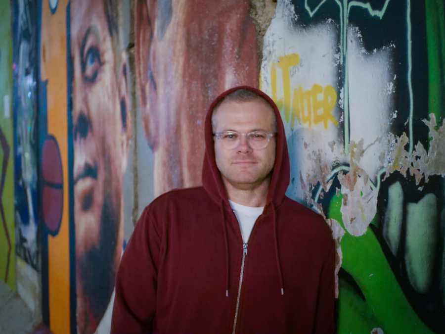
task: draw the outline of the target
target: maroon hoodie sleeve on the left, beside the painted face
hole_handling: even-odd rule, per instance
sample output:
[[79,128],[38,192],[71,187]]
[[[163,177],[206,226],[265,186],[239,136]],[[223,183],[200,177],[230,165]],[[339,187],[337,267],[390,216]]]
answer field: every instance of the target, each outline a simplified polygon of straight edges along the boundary
[[119,265],[111,333],[151,333],[160,248],[161,238],[147,207]]

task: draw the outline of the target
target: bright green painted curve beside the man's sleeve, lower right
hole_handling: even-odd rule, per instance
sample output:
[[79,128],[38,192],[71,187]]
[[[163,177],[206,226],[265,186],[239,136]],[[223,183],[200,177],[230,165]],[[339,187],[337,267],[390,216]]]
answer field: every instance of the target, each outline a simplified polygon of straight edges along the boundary
[[[341,194],[334,195],[329,204],[328,217],[337,220],[345,229],[340,212],[342,198]],[[361,325],[355,324],[355,326],[360,325],[365,328],[370,325],[367,319],[375,317],[376,327],[381,328],[385,334],[433,333],[420,320],[403,294],[373,231],[368,228],[367,232],[360,237],[354,237],[346,229],[345,231],[341,240],[342,268],[354,278],[365,297],[364,303],[370,310],[368,314],[356,318],[357,322],[361,319]],[[359,297],[354,296],[351,290],[346,292],[344,290],[345,288],[340,286],[340,305],[357,304]],[[355,300],[351,300],[352,298]],[[362,307],[365,309],[364,306]],[[351,308],[344,307],[340,310],[346,314],[339,316],[338,333],[351,332],[348,327],[349,323],[345,323],[344,320],[356,316],[355,312],[350,313],[352,312]],[[372,326],[367,328],[366,332],[359,332],[370,333],[374,328],[374,325]]]

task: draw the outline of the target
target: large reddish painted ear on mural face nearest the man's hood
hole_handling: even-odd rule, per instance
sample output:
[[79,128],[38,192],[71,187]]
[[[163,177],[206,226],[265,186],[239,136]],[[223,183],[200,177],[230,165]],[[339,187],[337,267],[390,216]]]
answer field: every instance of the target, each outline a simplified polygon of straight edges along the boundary
[[157,1],[136,0],[134,4],[134,67],[139,110],[145,136],[154,150],[158,143],[156,78],[150,54],[154,39]]

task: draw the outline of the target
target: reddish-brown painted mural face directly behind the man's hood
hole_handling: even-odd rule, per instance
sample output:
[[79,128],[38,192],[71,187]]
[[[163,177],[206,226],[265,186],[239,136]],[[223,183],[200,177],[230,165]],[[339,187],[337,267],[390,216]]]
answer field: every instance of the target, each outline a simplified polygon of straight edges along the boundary
[[208,106],[227,88],[258,86],[249,3],[135,1],[136,83],[155,196],[201,184]]

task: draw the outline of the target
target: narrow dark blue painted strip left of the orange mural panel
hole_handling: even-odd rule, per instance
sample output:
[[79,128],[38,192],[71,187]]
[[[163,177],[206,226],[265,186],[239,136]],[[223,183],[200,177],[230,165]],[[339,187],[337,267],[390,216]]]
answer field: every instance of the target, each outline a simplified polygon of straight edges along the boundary
[[29,0],[12,3],[15,247],[39,270],[37,7]]

